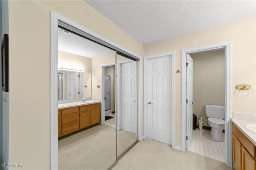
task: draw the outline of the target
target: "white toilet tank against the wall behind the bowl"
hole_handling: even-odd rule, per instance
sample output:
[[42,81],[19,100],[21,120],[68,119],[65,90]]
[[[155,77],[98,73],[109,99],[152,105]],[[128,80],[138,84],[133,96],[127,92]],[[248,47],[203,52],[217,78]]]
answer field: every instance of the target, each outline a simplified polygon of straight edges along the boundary
[[204,105],[204,113],[205,113],[206,117],[224,119],[224,117],[225,117],[225,106],[205,104]]

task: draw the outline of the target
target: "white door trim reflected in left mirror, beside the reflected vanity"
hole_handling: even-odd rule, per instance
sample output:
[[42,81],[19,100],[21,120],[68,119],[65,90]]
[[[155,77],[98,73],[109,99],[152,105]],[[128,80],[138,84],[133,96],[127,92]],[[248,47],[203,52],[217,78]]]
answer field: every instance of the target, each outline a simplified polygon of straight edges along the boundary
[[[105,100],[104,100],[104,92],[105,92],[105,67],[107,66],[115,66],[115,72],[116,72],[116,63],[108,63],[108,64],[102,64],[101,65],[101,94],[100,94],[100,101],[101,101],[101,116],[100,116],[100,124],[105,124]],[[111,98],[111,96],[110,96]]]

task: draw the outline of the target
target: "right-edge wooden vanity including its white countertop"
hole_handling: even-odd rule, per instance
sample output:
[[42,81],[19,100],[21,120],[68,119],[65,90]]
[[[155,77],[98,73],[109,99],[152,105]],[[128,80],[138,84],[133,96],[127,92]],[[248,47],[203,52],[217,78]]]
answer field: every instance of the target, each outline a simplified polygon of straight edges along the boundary
[[233,164],[236,170],[256,170],[256,133],[245,128],[251,121],[232,119]]

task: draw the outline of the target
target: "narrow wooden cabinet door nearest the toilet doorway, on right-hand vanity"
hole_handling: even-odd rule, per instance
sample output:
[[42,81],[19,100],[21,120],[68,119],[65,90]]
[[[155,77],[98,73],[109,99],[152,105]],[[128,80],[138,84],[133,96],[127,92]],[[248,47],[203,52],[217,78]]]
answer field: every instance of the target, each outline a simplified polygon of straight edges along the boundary
[[233,141],[233,164],[236,167],[236,170],[242,169],[242,162],[241,162],[241,147],[242,143],[237,139],[234,133],[232,134],[232,141]]

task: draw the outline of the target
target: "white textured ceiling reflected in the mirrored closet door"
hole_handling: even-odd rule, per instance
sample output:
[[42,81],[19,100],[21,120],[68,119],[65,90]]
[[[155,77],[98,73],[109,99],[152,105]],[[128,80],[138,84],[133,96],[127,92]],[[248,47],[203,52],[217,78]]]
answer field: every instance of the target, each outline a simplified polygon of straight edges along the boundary
[[83,37],[65,32],[61,28],[58,28],[58,50],[90,58],[115,53]]

